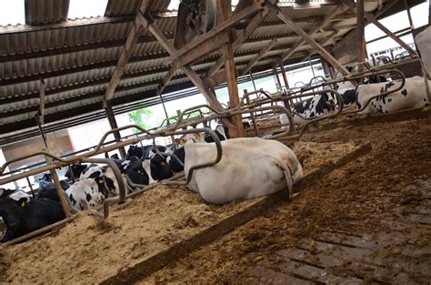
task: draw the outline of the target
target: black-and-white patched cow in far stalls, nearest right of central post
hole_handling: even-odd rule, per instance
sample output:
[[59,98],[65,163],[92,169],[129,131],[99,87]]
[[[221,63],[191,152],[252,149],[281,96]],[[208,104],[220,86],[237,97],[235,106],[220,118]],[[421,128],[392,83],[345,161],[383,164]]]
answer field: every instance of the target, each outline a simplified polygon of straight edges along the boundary
[[[335,108],[336,96],[328,93],[324,95],[316,95],[315,97],[308,98],[303,102],[292,105],[292,112],[296,112],[302,117],[312,118],[326,115],[329,112],[334,111]],[[292,114],[292,117],[298,125],[306,123],[306,120],[294,113]],[[283,125],[289,123],[286,114],[280,115],[280,123]]]

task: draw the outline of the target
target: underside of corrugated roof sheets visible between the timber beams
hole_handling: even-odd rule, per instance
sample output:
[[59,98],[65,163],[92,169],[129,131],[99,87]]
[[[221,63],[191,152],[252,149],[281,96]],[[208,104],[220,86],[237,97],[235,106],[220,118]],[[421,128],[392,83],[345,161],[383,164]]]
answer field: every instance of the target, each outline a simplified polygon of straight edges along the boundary
[[[42,5],[48,5],[54,0],[37,0],[30,5],[39,1],[42,1]],[[156,14],[155,25],[172,40],[176,18],[162,15],[170,1],[153,2],[151,12]],[[98,103],[102,102],[139,4],[139,0],[110,0],[104,17],[67,20],[51,25],[0,27],[0,133],[4,133],[5,129],[34,126],[34,114],[39,104],[38,80],[41,77],[45,78],[46,114],[65,118],[100,108]],[[294,9],[286,5],[281,9],[305,30],[316,25],[335,7],[322,5],[317,9]],[[378,4],[367,5],[376,8]],[[38,9],[35,6],[30,10],[35,12]],[[60,18],[59,10],[54,9],[45,11],[45,15],[35,13],[32,21],[46,19],[48,22],[44,23],[58,23]],[[348,21],[355,21],[355,18],[340,23],[349,24]],[[336,26],[337,23],[335,21],[332,24]],[[241,27],[238,25],[237,28]],[[339,31],[336,38],[339,39],[338,36],[345,35],[350,29]],[[315,38],[323,41],[329,34],[320,34]],[[275,37],[278,41],[276,46],[256,63],[255,70],[274,64],[278,56],[299,40],[276,15],[270,14],[237,50],[237,68],[246,66]],[[306,50],[309,50],[309,46],[299,48],[299,55],[304,55]],[[220,51],[212,52],[192,68],[202,74],[214,65],[219,56]],[[143,97],[156,96],[155,89],[172,65],[163,46],[148,31],[144,31],[131,51],[129,63],[115,90],[114,107]],[[177,70],[167,86],[181,87],[188,82],[181,70]]]

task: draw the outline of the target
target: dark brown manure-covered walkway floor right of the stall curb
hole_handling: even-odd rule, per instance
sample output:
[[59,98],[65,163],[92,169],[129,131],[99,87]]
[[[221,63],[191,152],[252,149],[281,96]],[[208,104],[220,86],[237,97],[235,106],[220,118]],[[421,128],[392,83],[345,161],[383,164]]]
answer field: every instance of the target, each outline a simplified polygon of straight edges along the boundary
[[428,284],[431,118],[303,139],[372,150],[140,283]]

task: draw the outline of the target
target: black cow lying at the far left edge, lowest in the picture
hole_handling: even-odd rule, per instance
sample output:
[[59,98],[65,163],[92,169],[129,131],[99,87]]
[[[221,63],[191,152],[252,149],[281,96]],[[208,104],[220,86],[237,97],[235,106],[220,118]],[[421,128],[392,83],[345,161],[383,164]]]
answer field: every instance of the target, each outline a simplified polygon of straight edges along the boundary
[[1,242],[6,242],[65,219],[65,212],[61,204],[53,200],[37,198],[20,207],[7,197],[0,198],[0,217],[7,228]]

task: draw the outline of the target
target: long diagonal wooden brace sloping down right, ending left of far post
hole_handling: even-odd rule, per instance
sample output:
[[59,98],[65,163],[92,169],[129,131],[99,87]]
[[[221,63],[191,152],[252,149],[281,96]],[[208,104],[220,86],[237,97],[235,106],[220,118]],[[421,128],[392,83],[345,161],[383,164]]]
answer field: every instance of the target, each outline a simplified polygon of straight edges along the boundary
[[313,48],[316,49],[317,53],[319,53],[320,56],[324,57],[326,61],[336,68],[342,75],[349,76],[350,73],[347,71],[345,66],[342,66],[334,56],[331,56],[329,52],[326,51],[326,49],[323,46],[320,46],[311,36],[308,36],[306,31],[301,28],[299,25],[296,25],[294,21],[286,15],[283,11],[280,10],[277,6],[274,5],[266,5],[269,9],[273,10],[276,15],[286,23],[286,25],[292,29],[297,35],[301,36],[304,40],[306,40],[306,43]]

